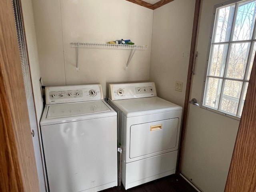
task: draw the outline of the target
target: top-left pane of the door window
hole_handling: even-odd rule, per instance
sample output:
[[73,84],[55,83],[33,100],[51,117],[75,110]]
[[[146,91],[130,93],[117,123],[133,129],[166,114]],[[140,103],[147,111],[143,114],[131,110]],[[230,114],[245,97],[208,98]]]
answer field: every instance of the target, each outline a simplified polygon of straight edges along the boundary
[[214,35],[214,42],[229,41],[230,30],[232,26],[232,19],[234,15],[235,4],[219,8],[216,16],[216,29]]

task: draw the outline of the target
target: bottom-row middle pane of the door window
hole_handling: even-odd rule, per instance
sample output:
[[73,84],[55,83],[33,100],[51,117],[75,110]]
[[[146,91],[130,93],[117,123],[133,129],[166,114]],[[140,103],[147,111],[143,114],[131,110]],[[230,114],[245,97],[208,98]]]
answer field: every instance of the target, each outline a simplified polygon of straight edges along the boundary
[[236,115],[242,82],[226,80],[220,110]]

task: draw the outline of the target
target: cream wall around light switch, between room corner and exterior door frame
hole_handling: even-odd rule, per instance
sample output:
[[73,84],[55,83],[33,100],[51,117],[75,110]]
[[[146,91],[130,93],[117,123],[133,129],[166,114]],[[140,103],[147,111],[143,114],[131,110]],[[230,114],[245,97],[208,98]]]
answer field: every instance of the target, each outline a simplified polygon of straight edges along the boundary
[[[175,0],[156,10],[153,17],[150,81],[158,96],[184,106],[195,0]],[[182,92],[175,81],[183,82]]]

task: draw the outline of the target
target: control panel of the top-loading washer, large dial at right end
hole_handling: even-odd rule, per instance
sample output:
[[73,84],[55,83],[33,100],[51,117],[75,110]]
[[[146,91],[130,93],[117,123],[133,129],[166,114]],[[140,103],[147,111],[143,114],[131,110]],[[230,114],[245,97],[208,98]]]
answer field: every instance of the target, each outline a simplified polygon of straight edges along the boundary
[[102,85],[74,85],[45,87],[46,104],[102,100]]

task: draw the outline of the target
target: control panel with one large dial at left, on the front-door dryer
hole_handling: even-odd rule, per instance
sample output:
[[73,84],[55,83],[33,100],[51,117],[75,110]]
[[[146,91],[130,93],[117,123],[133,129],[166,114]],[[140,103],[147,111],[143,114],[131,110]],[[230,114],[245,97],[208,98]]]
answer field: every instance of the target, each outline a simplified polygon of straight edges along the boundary
[[154,82],[109,84],[109,98],[111,100],[153,96],[156,96]]

